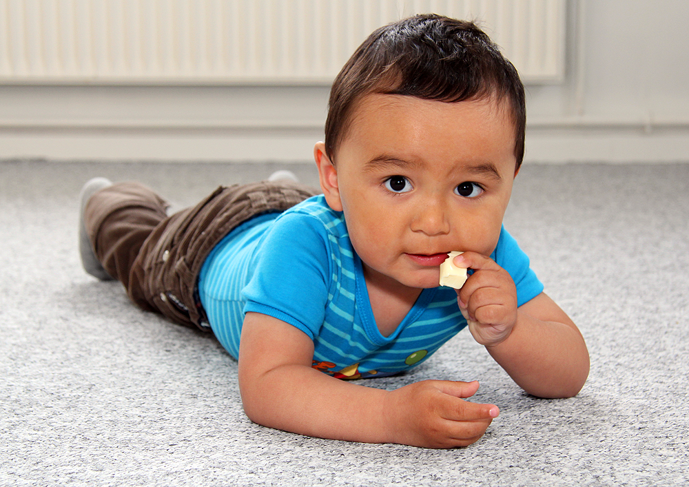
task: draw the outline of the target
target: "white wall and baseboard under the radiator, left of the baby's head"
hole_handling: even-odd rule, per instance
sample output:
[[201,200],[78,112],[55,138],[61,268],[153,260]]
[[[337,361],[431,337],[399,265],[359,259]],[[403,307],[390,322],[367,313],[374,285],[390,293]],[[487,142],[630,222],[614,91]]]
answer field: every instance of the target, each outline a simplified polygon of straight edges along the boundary
[[311,160],[327,87],[0,87],[0,158]]

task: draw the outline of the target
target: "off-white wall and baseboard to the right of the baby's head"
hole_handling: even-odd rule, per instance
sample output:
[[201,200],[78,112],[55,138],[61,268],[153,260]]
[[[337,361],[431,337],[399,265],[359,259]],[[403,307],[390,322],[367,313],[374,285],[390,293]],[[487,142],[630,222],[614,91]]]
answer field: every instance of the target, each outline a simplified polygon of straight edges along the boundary
[[528,87],[528,160],[689,160],[689,2],[570,2],[568,74]]

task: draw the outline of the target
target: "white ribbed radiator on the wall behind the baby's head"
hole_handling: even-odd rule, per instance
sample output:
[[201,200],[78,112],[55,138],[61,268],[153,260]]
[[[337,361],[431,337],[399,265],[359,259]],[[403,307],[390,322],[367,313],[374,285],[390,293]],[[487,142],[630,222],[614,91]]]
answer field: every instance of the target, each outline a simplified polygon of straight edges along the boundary
[[562,81],[565,0],[0,0],[0,83],[330,83],[420,12],[477,19],[524,81]]

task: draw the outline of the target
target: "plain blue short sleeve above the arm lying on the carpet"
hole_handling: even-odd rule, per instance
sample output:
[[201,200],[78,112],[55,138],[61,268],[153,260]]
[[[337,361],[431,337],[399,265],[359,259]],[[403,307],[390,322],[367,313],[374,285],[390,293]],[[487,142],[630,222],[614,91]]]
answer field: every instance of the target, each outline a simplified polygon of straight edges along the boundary
[[277,218],[254,255],[243,291],[244,312],[263,313],[311,339],[325,319],[330,259],[327,234],[317,218],[290,212]]

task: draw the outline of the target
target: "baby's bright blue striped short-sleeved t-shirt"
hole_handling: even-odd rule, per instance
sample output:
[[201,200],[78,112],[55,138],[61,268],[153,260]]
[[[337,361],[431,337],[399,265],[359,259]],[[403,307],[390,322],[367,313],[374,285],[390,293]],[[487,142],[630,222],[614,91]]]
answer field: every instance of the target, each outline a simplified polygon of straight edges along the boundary
[[[543,291],[504,229],[491,258],[511,274],[519,305]],[[315,347],[313,366],[343,379],[411,369],[466,327],[454,289],[436,287],[424,289],[384,337],[344,216],[322,195],[232,231],[208,256],[198,290],[214,333],[235,358],[244,313],[254,311],[306,333]]]

